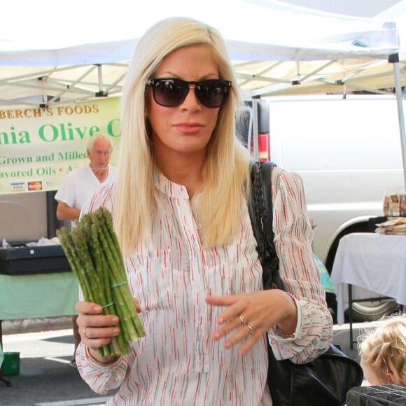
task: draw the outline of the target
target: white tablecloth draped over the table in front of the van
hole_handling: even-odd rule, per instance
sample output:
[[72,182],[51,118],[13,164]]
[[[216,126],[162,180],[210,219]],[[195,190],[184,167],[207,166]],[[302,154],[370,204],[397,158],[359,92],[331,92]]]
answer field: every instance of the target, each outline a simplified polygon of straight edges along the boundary
[[344,323],[344,310],[349,305],[350,283],[355,290],[363,290],[363,295],[353,295],[354,299],[381,295],[406,305],[406,235],[356,232],[342,237],[330,278],[337,295],[339,324]]

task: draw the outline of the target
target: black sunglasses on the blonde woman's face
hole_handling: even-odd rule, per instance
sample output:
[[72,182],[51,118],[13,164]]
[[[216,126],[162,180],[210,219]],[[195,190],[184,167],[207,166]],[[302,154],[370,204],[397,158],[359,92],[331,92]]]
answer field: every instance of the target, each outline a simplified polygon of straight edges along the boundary
[[146,84],[152,86],[155,102],[165,107],[179,106],[186,99],[190,85],[195,85],[193,88],[197,100],[209,109],[223,106],[231,87],[230,80],[223,79],[188,82],[177,78],[156,78],[148,80]]

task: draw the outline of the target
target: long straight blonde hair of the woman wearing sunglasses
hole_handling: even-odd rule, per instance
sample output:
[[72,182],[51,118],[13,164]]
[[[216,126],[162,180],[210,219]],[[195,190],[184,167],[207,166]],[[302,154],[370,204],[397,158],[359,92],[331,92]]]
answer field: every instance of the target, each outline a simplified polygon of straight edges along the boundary
[[156,200],[154,156],[146,121],[146,81],[162,59],[188,45],[209,45],[220,78],[232,80],[228,102],[218,112],[204,163],[197,216],[203,226],[203,244],[227,244],[241,216],[241,186],[248,182],[250,156],[235,133],[235,111],[241,104],[237,80],[221,34],[191,18],[167,18],[146,31],[130,62],[121,99],[122,136],[114,223],[124,255],[151,232]]

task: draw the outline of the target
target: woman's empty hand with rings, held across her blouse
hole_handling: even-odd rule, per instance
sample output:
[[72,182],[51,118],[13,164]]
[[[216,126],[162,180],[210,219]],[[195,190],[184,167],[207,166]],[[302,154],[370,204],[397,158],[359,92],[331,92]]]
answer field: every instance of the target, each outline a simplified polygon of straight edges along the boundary
[[213,333],[215,340],[225,335],[225,348],[244,341],[239,349],[242,355],[270,328],[278,325],[282,331],[294,332],[297,324],[297,308],[293,297],[279,289],[260,290],[253,293],[230,296],[209,296],[208,304],[226,306],[217,318],[219,328]]

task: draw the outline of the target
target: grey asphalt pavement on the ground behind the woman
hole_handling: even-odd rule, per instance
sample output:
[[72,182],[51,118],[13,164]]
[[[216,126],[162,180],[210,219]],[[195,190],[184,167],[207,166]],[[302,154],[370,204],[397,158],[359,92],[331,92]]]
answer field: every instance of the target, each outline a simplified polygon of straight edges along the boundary
[[[373,323],[354,324],[354,337]],[[357,358],[356,345],[349,348],[348,324],[334,326],[333,342]],[[69,365],[73,353],[69,317],[3,321],[3,351],[20,353],[20,373],[4,377],[10,386],[0,381],[2,406],[95,406],[113,395],[94,393]]]

